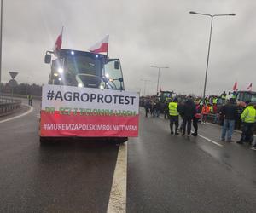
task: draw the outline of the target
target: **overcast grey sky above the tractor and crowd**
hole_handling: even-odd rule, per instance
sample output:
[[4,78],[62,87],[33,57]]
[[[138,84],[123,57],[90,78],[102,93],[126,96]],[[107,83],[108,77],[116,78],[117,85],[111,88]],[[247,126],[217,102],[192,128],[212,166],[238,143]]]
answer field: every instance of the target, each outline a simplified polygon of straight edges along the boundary
[[207,94],[256,87],[254,0],[3,0],[2,81],[19,72],[18,83],[47,83],[46,50],[64,26],[62,48],[86,51],[109,34],[109,56],[119,58],[126,90],[160,88],[201,95],[211,19],[189,14],[230,14],[213,20]]

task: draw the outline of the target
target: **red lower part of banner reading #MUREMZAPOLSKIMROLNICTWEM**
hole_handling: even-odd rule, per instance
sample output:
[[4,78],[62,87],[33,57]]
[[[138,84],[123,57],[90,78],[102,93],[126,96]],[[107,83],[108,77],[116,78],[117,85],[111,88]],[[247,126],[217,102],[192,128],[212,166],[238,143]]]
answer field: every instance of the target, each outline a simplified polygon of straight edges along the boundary
[[41,111],[40,136],[137,137],[139,116],[88,116]]

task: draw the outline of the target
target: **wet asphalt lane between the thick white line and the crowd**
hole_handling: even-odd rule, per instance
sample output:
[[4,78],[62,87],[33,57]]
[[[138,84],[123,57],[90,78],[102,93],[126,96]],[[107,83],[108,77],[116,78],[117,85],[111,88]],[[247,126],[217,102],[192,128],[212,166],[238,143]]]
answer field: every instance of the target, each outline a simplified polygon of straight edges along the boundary
[[128,146],[127,212],[255,212],[255,151],[219,141],[218,126],[199,132],[223,147],[140,118],[140,137]]

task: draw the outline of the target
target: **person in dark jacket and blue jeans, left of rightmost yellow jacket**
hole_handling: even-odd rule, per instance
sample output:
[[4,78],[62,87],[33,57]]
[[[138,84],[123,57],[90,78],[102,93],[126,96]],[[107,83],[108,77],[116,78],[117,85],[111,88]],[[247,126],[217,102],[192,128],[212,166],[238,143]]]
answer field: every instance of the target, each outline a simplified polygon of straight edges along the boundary
[[230,98],[230,101],[222,107],[222,115],[224,116],[224,124],[222,127],[221,141],[225,141],[225,136],[227,133],[227,141],[231,142],[233,130],[235,127],[235,121],[237,118],[238,107],[236,105],[235,99]]

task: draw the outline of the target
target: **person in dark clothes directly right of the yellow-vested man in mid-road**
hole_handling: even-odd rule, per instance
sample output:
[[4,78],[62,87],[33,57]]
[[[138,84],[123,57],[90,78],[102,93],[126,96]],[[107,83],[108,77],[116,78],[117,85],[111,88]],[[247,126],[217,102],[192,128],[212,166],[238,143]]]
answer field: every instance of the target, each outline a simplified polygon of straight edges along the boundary
[[187,135],[189,136],[191,132],[191,120],[195,115],[195,103],[192,99],[189,98],[185,101],[183,111],[183,135],[185,135],[187,130]]

